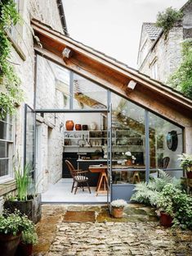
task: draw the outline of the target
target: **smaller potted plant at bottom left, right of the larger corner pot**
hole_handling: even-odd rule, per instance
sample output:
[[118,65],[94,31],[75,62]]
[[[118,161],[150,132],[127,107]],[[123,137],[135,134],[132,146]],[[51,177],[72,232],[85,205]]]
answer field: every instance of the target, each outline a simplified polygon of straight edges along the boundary
[[30,256],[33,253],[33,245],[38,242],[38,235],[34,226],[31,229],[22,231],[20,244],[18,245],[16,255]]

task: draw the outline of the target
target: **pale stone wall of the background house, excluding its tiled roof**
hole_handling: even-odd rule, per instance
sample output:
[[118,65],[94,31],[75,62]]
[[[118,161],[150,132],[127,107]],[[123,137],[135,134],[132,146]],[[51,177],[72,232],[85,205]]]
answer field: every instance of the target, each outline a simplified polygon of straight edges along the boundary
[[142,73],[151,76],[150,65],[155,58],[158,65],[158,80],[167,83],[168,77],[181,63],[182,41],[183,28],[182,26],[176,26],[170,30],[167,39],[165,39],[164,35],[161,36],[154,48],[151,49],[139,70]]

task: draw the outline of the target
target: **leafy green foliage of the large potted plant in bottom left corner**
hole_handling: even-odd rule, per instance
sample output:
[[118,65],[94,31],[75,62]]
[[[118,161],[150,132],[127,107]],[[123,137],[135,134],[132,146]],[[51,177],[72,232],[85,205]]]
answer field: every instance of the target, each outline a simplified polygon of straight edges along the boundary
[[0,215],[0,234],[17,235],[22,231],[33,230],[33,222],[20,211],[4,212]]

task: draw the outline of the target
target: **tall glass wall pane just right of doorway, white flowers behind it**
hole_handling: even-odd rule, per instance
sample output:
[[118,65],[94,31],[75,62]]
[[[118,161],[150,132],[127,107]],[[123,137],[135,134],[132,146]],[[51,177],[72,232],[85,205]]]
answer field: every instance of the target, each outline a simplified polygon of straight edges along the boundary
[[114,184],[145,181],[145,110],[112,94]]

